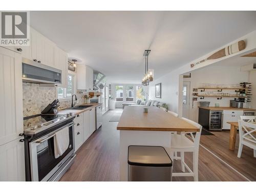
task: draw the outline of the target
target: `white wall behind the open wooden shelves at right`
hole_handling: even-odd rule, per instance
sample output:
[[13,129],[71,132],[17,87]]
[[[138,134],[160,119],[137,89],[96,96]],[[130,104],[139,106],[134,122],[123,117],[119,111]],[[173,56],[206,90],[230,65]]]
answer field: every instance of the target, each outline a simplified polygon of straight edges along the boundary
[[[193,88],[202,87],[202,83],[213,83],[213,84],[239,84],[240,82],[248,82],[249,72],[241,72],[240,67],[232,66],[209,66],[207,68],[199,69],[191,72],[191,78],[185,78],[184,81],[190,81],[190,106],[189,106],[189,119],[198,121],[198,106],[199,101],[210,101],[210,106],[215,106],[215,103],[220,103],[220,106],[229,106],[230,99],[232,97],[222,97],[218,100],[217,97],[205,97],[198,101],[194,101],[194,108],[192,108],[193,102]],[[214,91],[214,90],[205,90]],[[217,92],[217,90],[216,90]],[[198,90],[198,94],[200,94]],[[223,93],[236,94],[234,90],[223,90]]]

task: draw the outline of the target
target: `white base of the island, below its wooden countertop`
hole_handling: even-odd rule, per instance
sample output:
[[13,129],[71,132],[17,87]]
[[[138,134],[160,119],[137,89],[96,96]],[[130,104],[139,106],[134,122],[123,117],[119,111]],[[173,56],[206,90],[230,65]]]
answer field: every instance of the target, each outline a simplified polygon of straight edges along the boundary
[[120,130],[119,146],[119,178],[120,181],[128,181],[128,146],[147,145],[163,146],[169,154],[170,133],[167,131],[133,131]]

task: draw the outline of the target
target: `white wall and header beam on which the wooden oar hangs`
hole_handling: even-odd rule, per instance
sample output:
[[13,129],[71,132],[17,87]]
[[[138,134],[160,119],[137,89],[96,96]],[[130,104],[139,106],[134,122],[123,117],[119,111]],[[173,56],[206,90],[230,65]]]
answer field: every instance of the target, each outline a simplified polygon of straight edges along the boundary
[[[225,48],[234,42],[237,42],[239,40],[244,40],[246,42],[246,48],[236,54],[228,55],[219,59],[212,59],[205,61],[201,63],[200,65],[195,66],[194,68],[190,67],[191,63],[196,63],[197,61],[203,60],[207,58],[209,55],[215,53],[216,51],[219,51],[222,48]],[[187,73],[189,71],[194,71],[196,69],[204,68],[206,66],[214,65],[215,63],[219,61],[223,61],[225,59],[228,59],[233,56],[238,56],[238,55],[245,55],[250,52],[253,52],[256,50],[256,31],[253,31],[247,35],[244,35],[238,39],[235,39],[232,42],[229,42],[229,44],[226,44],[222,46],[221,48],[216,49],[215,51],[212,51],[211,53],[208,53],[206,55],[203,55],[200,58],[197,58],[193,61],[190,61],[188,63],[184,63],[184,65],[181,65],[180,68],[175,69],[163,77],[160,77],[153,82],[150,83],[150,99],[155,99],[155,84],[162,82],[162,102],[166,102],[169,105],[170,110],[179,113],[180,116],[182,116],[182,100],[179,98],[179,95],[182,94],[182,83],[180,82],[180,75]],[[182,81],[182,80],[181,80]]]

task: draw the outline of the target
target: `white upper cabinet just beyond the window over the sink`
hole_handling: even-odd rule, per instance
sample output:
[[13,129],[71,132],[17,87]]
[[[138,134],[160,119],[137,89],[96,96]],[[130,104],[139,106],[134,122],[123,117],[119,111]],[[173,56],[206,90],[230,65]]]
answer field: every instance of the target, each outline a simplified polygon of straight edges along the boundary
[[77,65],[77,89],[93,90],[93,69],[85,65]]

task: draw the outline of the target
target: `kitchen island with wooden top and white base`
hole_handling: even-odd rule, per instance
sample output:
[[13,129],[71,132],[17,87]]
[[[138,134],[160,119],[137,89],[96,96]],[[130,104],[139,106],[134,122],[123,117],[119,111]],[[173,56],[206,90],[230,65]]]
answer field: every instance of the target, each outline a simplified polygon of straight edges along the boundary
[[156,106],[148,106],[148,113],[143,113],[143,108],[144,106],[125,106],[117,125],[117,130],[120,130],[120,181],[127,181],[129,145],[163,146],[170,155],[170,134],[172,132],[199,131],[194,125]]

